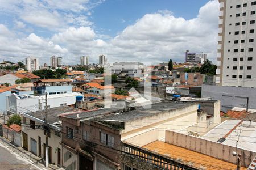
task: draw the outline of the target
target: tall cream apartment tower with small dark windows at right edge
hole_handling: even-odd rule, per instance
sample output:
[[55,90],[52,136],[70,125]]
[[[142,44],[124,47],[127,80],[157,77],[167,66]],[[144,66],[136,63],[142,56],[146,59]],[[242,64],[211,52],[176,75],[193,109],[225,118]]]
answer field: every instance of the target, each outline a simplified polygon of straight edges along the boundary
[[256,87],[256,1],[219,2],[216,83]]

